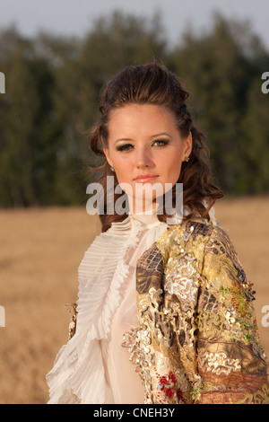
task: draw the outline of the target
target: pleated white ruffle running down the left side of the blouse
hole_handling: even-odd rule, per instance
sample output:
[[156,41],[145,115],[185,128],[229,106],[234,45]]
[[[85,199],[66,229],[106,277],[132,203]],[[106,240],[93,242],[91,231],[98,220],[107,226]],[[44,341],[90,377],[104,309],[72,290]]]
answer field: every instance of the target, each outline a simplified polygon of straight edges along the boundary
[[128,275],[125,252],[136,245],[141,228],[139,222],[128,217],[97,236],[85,252],[79,268],[76,333],[60,349],[47,374],[48,404],[65,400],[81,404],[112,402],[99,340],[108,337],[120,299],[119,288]]

